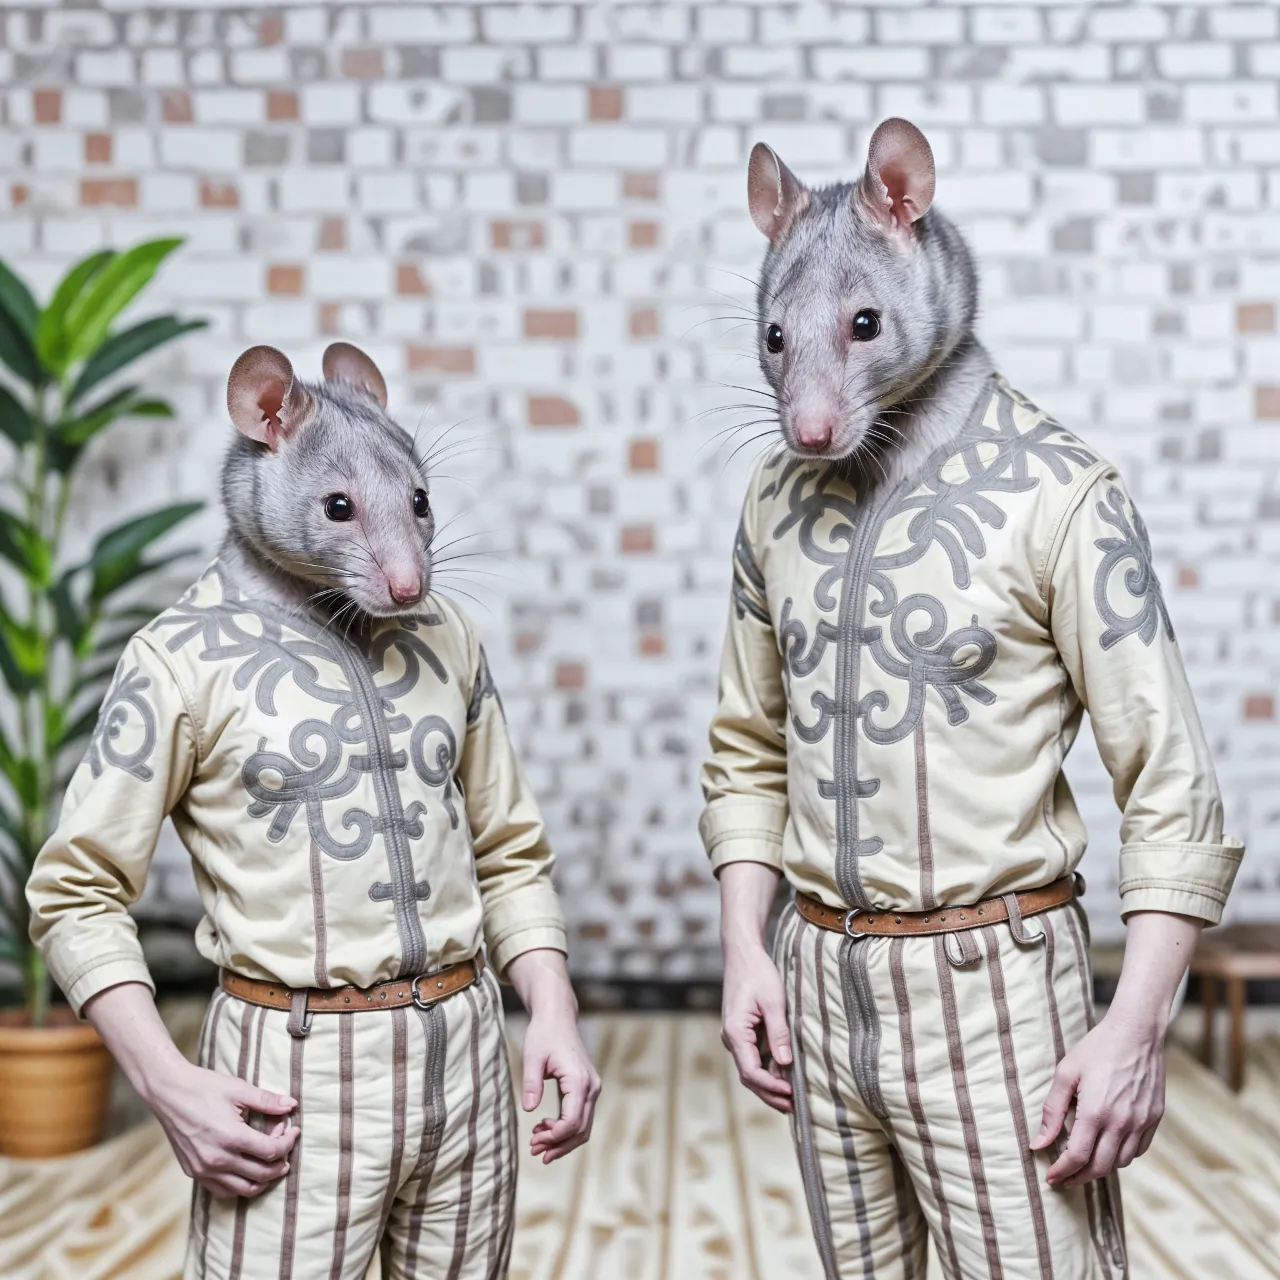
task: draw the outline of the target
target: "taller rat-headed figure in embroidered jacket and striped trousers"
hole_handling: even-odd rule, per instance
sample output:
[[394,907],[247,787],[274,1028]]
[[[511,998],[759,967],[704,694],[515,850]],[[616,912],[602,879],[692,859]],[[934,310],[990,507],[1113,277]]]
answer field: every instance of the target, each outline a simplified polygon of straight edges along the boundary
[[[905,120],[851,184],[751,154],[782,442],[742,508],[703,774],[724,1042],[792,1114],[832,1280],[919,1280],[928,1234],[950,1280],[1119,1280],[1114,1170],[1155,1134],[1170,1005],[1243,846],[1146,527],[995,374],[933,188]],[[1062,776],[1085,710],[1129,934],[1097,1023]]]

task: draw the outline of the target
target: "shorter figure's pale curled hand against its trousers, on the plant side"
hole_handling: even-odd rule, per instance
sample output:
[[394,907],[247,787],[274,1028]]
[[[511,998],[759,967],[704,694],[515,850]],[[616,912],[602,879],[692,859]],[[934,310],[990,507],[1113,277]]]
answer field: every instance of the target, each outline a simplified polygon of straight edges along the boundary
[[[212,1196],[257,1196],[289,1171],[301,1133],[287,1119],[297,1107],[293,1098],[186,1060],[154,1074],[145,1098],[183,1172]],[[248,1123],[250,1111],[279,1119],[262,1133]]]

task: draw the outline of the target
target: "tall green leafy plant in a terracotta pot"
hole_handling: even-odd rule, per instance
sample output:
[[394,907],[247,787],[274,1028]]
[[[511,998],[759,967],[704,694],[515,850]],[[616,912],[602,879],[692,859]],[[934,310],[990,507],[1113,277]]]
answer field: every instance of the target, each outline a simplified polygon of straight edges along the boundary
[[[156,611],[134,585],[175,557],[147,549],[201,503],[163,507],[109,529],[67,562],[72,474],[84,447],[120,419],[172,417],[136,385],[104,384],[204,325],[173,315],[116,328],[120,312],[180,241],[104,250],[73,266],[46,306],[0,261],[0,433],[15,462],[0,495],[0,963],[24,1001],[0,1012],[0,1151],[49,1156],[93,1143],[111,1064],[96,1032],[51,1006],[50,978],[27,936],[26,886],[55,806],[129,634]],[[184,554],[184,553],[179,553]]]

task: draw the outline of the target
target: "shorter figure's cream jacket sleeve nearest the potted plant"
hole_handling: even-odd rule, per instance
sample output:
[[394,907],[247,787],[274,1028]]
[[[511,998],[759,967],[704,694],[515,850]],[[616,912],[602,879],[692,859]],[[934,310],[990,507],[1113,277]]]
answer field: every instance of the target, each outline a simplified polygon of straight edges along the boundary
[[195,724],[175,677],[134,636],[27,882],[31,938],[77,1012],[123,982],[155,989],[128,909],[196,758]]

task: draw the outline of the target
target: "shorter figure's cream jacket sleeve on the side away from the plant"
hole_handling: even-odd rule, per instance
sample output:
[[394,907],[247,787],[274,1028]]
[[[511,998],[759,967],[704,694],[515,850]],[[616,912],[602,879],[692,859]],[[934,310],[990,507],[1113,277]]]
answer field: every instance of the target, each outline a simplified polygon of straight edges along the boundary
[[500,974],[525,951],[549,947],[567,954],[568,943],[543,817],[516,759],[483,646],[474,643],[474,653],[458,780],[475,847],[485,943]]

